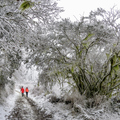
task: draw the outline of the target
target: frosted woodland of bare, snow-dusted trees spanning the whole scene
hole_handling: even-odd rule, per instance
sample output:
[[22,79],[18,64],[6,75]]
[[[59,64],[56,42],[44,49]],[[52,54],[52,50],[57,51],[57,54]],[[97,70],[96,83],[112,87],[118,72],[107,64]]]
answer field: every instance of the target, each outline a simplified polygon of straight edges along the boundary
[[98,8],[74,22],[63,11],[53,0],[0,1],[0,103],[22,63],[36,67],[45,91],[58,84],[71,99],[92,99],[88,107],[120,100],[120,10]]

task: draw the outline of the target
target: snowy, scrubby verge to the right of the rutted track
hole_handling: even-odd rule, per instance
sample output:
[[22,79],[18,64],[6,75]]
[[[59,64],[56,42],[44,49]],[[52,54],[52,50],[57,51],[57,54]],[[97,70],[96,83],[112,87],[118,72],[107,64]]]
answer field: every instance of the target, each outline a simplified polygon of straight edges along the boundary
[[[57,88],[56,88],[57,90]],[[38,103],[38,105],[46,111],[47,114],[52,114],[54,120],[120,120],[120,108],[118,111],[112,111],[109,102],[103,103],[98,108],[85,108],[81,104],[79,112],[75,112],[71,104],[64,102],[51,103],[50,96],[52,94],[39,94],[39,91],[31,95],[31,98]]]

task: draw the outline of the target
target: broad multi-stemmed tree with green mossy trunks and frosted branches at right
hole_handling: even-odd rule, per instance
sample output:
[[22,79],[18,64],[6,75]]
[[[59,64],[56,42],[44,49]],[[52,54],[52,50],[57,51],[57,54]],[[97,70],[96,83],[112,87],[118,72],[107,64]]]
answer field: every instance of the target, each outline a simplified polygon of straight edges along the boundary
[[[119,12],[111,11],[98,9],[74,23],[67,19],[55,22],[43,32],[30,56],[31,63],[47,76],[47,82],[67,82],[87,97],[112,94],[119,86],[119,76],[111,71],[118,67],[119,60],[114,60],[117,66],[110,63],[116,54],[119,58]],[[110,59],[106,53],[110,53]]]

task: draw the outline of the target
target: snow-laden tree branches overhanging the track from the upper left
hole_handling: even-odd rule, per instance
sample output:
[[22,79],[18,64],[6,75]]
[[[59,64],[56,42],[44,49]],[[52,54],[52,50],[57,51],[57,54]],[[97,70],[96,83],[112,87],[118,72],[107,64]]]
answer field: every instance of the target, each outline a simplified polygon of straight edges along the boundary
[[[51,0],[0,1],[1,76],[4,74],[6,80],[12,76],[23,60],[22,49],[36,48],[41,30],[57,19],[61,11]],[[3,81],[0,79],[1,84]]]

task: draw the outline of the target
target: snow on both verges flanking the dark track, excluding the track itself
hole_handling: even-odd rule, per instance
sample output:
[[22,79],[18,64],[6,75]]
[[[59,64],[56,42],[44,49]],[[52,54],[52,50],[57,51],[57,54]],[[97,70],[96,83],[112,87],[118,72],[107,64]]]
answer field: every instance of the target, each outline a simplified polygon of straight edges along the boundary
[[50,97],[53,96],[53,94],[46,94],[43,91],[40,92],[38,89],[34,93],[33,91],[37,88],[34,82],[23,82],[15,85],[14,94],[7,98],[3,106],[0,106],[0,120],[5,120],[5,116],[9,115],[9,112],[14,108],[15,100],[21,96],[21,85],[29,87],[29,97],[34,100],[43,111],[46,111],[46,114],[51,114],[53,120],[120,120],[120,112],[113,113],[109,110],[107,103],[106,105],[104,103],[104,105],[99,108],[91,109],[85,109],[81,104],[76,104],[81,110],[79,112],[75,112],[71,104],[65,104],[64,102],[51,103]]

